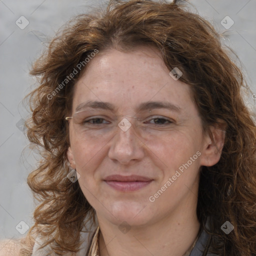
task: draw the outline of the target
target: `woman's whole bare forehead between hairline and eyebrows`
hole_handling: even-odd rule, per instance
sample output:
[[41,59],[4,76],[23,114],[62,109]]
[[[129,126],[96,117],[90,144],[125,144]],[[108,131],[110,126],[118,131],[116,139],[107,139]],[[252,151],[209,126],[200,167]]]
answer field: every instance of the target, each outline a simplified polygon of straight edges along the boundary
[[139,46],[129,52],[108,49],[99,52],[86,65],[75,84],[73,110],[84,101],[108,101],[121,108],[140,102],[171,101],[191,103],[190,88],[174,80],[151,47]]

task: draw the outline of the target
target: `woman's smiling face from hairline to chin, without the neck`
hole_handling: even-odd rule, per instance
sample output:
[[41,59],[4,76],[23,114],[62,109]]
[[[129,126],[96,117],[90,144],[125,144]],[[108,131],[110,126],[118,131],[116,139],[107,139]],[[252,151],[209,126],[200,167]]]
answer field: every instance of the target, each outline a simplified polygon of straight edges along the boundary
[[75,84],[67,156],[98,217],[140,225],[196,207],[199,167],[218,159],[188,85],[169,71],[149,47],[109,49]]

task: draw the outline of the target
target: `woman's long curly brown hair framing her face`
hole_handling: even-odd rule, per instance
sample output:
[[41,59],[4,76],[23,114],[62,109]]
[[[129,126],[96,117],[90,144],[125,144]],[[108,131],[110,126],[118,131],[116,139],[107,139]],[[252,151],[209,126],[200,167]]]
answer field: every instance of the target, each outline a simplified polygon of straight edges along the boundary
[[[241,95],[248,86],[209,22],[177,1],[151,0],[111,0],[104,10],[75,17],[34,63],[31,74],[40,79],[28,95],[32,115],[26,125],[41,161],[27,182],[39,205],[20,254],[31,255],[35,236],[59,255],[78,250],[84,218],[94,219],[95,212],[78,182],[66,178],[69,138],[64,117],[70,114],[73,85],[86,65],[72,78],[69,74],[95,49],[132,51],[137,45],[155,47],[169,70],[182,71],[179,79],[190,85],[205,131],[219,120],[225,122],[220,160],[201,166],[197,218],[212,234],[214,253],[256,255],[256,126]],[[234,226],[228,235],[220,229],[226,220]]]

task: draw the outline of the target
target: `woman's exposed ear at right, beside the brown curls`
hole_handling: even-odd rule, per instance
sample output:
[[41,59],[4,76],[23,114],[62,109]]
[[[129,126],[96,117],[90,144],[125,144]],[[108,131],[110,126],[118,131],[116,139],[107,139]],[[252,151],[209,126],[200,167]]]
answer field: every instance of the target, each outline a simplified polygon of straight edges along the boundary
[[204,138],[200,165],[212,166],[219,161],[225,142],[225,129],[226,124],[223,121],[209,127]]

